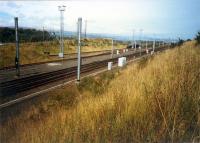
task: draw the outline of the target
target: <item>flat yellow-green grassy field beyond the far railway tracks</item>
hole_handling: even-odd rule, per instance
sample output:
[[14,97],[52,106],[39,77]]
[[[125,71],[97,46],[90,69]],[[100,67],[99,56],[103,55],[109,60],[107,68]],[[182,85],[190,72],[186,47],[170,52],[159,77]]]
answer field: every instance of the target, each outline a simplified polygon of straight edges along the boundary
[[[111,50],[112,44],[109,39],[84,39],[82,46],[82,52]],[[64,53],[75,53],[76,52],[76,40],[66,39],[64,41]],[[121,49],[126,47],[126,43],[115,42],[114,47]],[[20,63],[30,64],[44,61],[52,61],[59,59],[58,55],[60,50],[58,41],[48,42],[32,42],[32,43],[21,43],[20,44]],[[14,66],[15,62],[15,44],[6,44],[0,46],[0,68],[7,66]]]

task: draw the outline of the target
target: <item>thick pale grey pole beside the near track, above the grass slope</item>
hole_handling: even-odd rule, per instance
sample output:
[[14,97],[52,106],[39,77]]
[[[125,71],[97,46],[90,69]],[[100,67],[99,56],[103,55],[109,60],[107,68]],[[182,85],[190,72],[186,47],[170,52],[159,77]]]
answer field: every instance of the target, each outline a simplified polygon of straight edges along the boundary
[[82,18],[78,18],[78,67],[77,67],[77,82],[80,82],[80,70],[81,70],[81,30],[82,30]]

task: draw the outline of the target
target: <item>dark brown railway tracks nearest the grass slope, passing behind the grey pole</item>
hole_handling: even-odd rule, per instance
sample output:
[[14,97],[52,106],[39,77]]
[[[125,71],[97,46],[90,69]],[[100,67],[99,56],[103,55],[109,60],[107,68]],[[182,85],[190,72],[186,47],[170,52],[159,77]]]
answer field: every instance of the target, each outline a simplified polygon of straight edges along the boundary
[[[166,48],[160,48],[160,49],[156,49],[156,51],[162,51],[165,49]],[[141,53],[136,52],[130,55],[126,55],[126,57],[127,57],[127,60],[130,60],[136,57],[143,56],[145,54],[146,52],[142,51]],[[113,59],[107,59],[104,61],[97,61],[90,64],[82,65],[81,74],[89,73],[93,70],[106,67],[107,63],[110,61],[112,61],[115,64],[117,63],[117,60],[118,58],[113,58]],[[0,89],[2,93],[1,98],[7,97],[7,96],[14,96],[20,92],[34,89],[42,85],[46,85],[48,83],[56,82],[59,80],[75,78],[76,74],[77,74],[77,67],[75,66],[75,67],[62,69],[58,71],[42,73],[38,75],[29,76],[26,78],[20,78],[20,79],[15,79],[12,81],[3,82],[3,83],[0,83]]]

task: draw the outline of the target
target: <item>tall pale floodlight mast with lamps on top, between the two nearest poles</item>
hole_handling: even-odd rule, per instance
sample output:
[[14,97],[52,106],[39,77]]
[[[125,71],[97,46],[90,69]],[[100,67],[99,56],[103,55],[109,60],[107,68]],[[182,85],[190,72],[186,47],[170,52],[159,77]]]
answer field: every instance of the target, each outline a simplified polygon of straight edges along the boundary
[[64,5],[58,6],[58,10],[60,11],[60,53],[59,57],[63,58],[64,57],[64,43],[63,43],[63,35],[64,35],[64,16],[63,13],[65,11]]

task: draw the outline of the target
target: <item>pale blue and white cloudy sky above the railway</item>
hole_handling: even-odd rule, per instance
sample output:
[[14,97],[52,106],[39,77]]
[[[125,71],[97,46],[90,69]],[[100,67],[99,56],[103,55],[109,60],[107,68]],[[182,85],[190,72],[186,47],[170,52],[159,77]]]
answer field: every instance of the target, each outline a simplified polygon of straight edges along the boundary
[[200,31],[200,0],[0,1],[0,26],[59,30],[59,5],[65,5],[64,29],[76,31],[87,20],[88,33],[193,38]]

